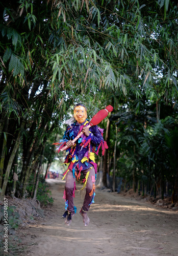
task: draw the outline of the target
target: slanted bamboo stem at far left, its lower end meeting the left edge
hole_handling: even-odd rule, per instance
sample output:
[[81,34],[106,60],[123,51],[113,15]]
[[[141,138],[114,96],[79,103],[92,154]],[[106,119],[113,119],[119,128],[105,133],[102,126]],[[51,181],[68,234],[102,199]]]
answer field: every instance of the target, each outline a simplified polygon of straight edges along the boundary
[[25,124],[26,124],[26,120],[22,120],[20,130],[18,131],[18,135],[17,135],[16,141],[15,141],[15,145],[14,145],[14,148],[13,148],[13,151],[12,151],[12,154],[10,156],[8,166],[7,166],[7,169],[6,169],[6,174],[5,174],[3,187],[2,187],[2,192],[1,192],[1,200],[3,200],[3,198],[4,198],[6,187],[7,187],[7,184],[8,184],[9,174],[10,174],[10,171],[11,171],[11,167],[12,167],[12,164],[13,164],[14,157],[15,157],[15,154],[17,152],[18,146],[20,144],[21,129],[23,129]]

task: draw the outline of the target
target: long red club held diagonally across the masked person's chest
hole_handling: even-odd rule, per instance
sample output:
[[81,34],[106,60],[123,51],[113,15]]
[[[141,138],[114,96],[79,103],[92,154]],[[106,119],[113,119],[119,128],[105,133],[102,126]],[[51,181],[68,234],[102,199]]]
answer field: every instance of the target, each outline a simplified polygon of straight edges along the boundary
[[[113,106],[111,105],[108,105],[106,107],[106,109],[104,110],[100,110],[98,113],[96,113],[93,118],[91,119],[90,121],[90,124],[87,126],[87,127],[91,127],[92,125],[97,125],[98,123],[100,123],[103,119],[105,119],[105,117],[108,116],[108,113],[113,111]],[[77,137],[75,137],[72,142],[75,142],[76,140],[78,140],[81,135],[83,134],[84,132],[82,131]],[[64,146],[61,148],[61,151],[64,151],[68,148],[68,146]]]

